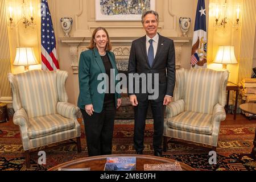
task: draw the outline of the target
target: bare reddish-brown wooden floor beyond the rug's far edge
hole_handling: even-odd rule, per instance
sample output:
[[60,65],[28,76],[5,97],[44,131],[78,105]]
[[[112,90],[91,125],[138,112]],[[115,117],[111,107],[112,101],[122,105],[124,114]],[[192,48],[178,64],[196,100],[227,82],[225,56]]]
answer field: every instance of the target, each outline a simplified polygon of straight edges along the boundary
[[[245,117],[245,115],[242,114],[237,114],[236,120],[234,120],[233,114],[227,114],[226,120],[221,121],[221,125],[246,125],[250,123],[256,124],[256,119],[249,120],[247,117]],[[1,127],[10,127],[12,130],[19,130],[19,127],[17,125],[14,125],[12,118],[10,118],[9,122],[0,123],[0,128]]]

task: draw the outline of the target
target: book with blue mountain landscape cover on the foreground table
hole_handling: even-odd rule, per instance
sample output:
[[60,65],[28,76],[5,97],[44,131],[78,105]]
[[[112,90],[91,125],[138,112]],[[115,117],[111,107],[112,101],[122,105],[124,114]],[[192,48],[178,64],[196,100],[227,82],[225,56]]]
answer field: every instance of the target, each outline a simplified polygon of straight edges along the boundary
[[107,158],[104,171],[135,171],[135,157]]

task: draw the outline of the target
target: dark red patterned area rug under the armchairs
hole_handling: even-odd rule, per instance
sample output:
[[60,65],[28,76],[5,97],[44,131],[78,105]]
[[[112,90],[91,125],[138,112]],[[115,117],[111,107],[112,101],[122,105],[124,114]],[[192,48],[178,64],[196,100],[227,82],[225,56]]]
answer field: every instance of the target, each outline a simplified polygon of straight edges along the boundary
[[[113,154],[134,154],[133,148],[133,122],[116,121],[113,139]],[[255,124],[250,125],[232,125],[221,126],[220,136],[217,146],[217,164],[210,165],[208,160],[210,156],[207,150],[198,146],[187,146],[168,142],[168,151],[164,152],[165,158],[175,159],[188,164],[197,170],[213,171],[251,171],[256,170],[255,160],[249,157],[239,158],[241,153],[249,153],[253,147],[255,133]],[[69,144],[54,149],[40,148],[46,151],[46,165],[38,165],[38,153],[31,155],[31,168],[27,169],[24,164],[24,151],[20,141],[18,128],[10,129],[0,127],[0,170],[19,170],[19,171],[40,171],[47,170],[57,164],[68,162],[70,160],[84,158],[87,156],[86,140],[84,127],[81,129],[82,152],[77,153],[75,144]],[[146,131],[144,133],[144,154],[153,155],[152,146],[153,125],[148,120]],[[184,143],[184,141],[182,141]],[[63,142],[64,143],[64,142]],[[186,142],[189,143],[189,142]],[[193,143],[195,144],[195,143]],[[53,144],[52,146],[56,146]],[[208,146],[209,147],[209,146]]]

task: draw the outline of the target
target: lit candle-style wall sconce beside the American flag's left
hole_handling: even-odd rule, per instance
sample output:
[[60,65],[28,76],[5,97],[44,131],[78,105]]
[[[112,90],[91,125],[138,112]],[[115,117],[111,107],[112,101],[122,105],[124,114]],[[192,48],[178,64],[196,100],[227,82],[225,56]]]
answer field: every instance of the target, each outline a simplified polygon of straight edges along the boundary
[[[22,18],[18,18],[18,22],[15,23],[14,22],[14,9],[13,7],[9,6],[9,14],[10,14],[10,21],[8,22],[8,26],[11,28],[16,27],[20,21],[22,21],[22,23],[24,24],[24,27],[32,27],[34,28],[34,26],[36,25],[34,22],[34,18],[33,18],[33,7],[30,3],[30,7],[28,8],[25,0],[23,0],[22,2],[22,6],[21,6],[21,12],[22,12]],[[28,16],[30,16],[30,20],[27,18]]]

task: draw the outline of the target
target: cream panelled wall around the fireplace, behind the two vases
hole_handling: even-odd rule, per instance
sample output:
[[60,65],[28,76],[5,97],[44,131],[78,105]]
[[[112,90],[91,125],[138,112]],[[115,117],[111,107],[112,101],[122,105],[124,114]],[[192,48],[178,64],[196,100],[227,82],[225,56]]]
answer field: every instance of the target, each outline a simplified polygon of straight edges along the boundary
[[[209,1],[207,0],[207,2]],[[183,16],[192,18],[191,28],[187,33],[188,36],[192,36],[193,24],[195,23],[193,19],[195,19],[196,5],[196,0],[156,1],[156,11],[159,12],[160,16],[160,34],[170,38],[181,36],[178,19],[180,16]],[[74,20],[72,31],[70,33],[71,37],[90,37],[91,32],[95,27],[98,26],[106,27],[111,38],[138,38],[144,35],[140,21],[96,22],[94,14],[94,0],[55,0],[55,19],[58,21],[56,23],[57,36],[61,38],[64,35],[59,22],[60,18],[62,17],[71,17]],[[182,48],[181,67],[183,68],[190,68],[191,44],[191,42],[184,44]],[[75,97],[77,96],[78,92],[78,85],[76,83],[77,75],[73,75],[70,59],[71,56],[69,55],[69,46],[67,44],[60,43],[59,41],[60,68],[69,72],[69,77],[67,80],[69,101],[76,103],[77,98]]]

